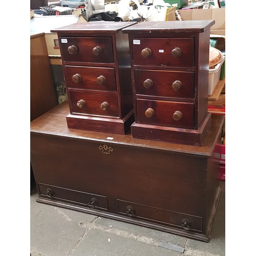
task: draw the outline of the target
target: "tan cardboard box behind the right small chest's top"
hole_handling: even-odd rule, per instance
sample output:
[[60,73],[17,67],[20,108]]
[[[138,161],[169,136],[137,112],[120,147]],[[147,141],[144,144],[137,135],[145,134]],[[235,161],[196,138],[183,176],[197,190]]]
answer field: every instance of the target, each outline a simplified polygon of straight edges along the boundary
[[225,8],[180,9],[179,12],[183,20],[215,20],[215,24],[210,28],[210,33],[225,35]]

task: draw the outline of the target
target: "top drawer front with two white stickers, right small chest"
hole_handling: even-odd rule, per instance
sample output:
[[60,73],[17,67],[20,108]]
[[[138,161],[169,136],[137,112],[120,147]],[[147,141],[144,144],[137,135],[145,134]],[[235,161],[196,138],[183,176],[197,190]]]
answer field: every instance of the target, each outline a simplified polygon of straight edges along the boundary
[[134,65],[194,67],[194,38],[133,38]]

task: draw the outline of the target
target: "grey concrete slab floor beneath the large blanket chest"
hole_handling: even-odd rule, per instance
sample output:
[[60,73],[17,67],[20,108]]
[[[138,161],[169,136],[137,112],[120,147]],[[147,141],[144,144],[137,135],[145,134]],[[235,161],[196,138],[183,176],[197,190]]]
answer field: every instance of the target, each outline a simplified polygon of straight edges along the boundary
[[31,256],[224,256],[225,181],[220,181],[220,187],[222,192],[209,243],[37,203],[37,191],[33,187]]

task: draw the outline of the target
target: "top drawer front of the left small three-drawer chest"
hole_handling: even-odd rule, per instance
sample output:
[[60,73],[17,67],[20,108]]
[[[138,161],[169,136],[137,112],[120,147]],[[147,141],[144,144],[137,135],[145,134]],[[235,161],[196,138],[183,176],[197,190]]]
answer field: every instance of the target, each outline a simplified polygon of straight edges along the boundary
[[111,37],[61,37],[64,61],[114,63]]

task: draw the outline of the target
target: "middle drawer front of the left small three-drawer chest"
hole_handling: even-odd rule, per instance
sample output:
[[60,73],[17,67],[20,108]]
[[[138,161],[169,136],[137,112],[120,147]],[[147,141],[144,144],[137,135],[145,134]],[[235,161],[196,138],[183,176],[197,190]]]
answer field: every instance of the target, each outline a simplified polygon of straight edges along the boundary
[[65,73],[69,88],[116,91],[114,68],[65,66]]

